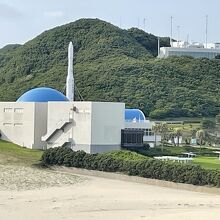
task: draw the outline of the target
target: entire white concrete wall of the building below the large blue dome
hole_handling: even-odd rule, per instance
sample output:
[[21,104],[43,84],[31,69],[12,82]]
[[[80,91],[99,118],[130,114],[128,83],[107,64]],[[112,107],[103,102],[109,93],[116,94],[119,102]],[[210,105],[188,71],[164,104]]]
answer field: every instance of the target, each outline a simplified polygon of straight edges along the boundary
[[0,130],[2,139],[32,149],[119,150],[124,109],[110,102],[1,102]]

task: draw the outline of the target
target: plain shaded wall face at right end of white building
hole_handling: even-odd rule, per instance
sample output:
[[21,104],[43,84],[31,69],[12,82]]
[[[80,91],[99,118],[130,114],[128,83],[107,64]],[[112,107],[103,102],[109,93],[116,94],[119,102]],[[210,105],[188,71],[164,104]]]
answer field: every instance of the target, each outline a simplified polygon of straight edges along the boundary
[[121,149],[121,130],[124,129],[124,103],[92,103],[91,153]]

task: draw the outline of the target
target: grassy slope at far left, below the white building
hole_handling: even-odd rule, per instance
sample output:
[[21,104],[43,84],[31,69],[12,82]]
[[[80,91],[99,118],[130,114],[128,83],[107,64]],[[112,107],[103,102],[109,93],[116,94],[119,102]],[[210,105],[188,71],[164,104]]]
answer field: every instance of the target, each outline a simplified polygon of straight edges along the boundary
[[32,165],[37,163],[43,151],[31,150],[0,140],[0,164]]

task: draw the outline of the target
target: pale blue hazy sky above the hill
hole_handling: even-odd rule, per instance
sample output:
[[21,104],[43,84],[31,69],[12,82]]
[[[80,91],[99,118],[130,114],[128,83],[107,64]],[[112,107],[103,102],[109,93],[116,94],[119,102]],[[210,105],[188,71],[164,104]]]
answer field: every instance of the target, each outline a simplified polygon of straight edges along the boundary
[[208,15],[208,42],[220,42],[219,8],[219,0],[0,0],[0,48],[80,18],[170,36],[172,16],[175,39],[205,42]]

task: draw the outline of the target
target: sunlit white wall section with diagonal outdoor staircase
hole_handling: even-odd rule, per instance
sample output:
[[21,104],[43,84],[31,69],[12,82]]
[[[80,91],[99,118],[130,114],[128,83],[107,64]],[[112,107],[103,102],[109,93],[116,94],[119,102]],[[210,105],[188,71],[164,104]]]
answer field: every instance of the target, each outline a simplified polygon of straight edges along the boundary
[[[60,129],[62,121],[67,123]],[[48,148],[62,146],[69,139],[73,150],[90,153],[91,102],[49,102],[47,130],[48,133],[56,130]]]

